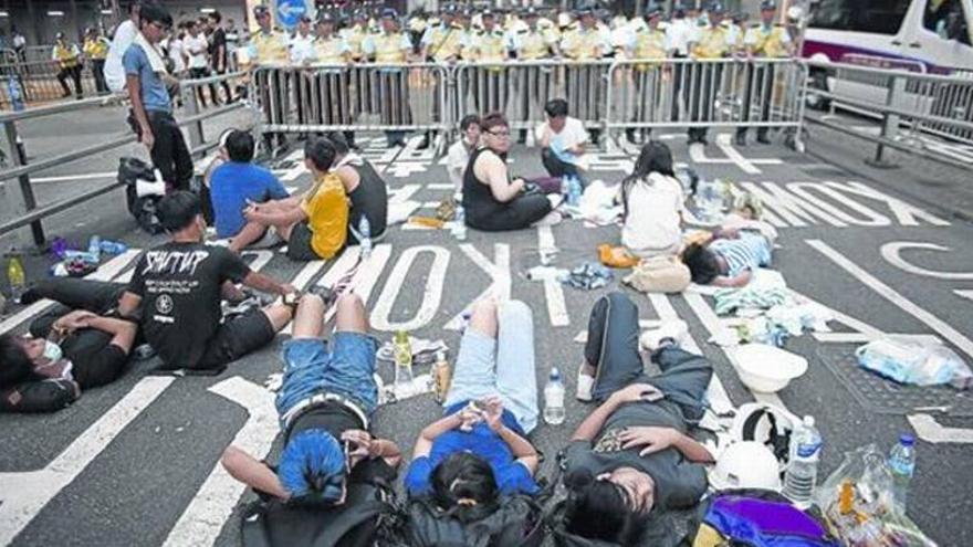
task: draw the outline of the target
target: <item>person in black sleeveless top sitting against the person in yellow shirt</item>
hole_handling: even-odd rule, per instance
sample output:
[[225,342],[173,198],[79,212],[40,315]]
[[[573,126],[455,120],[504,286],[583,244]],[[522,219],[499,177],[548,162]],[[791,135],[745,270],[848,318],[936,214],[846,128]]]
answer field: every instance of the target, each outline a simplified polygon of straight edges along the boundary
[[337,152],[331,170],[342,180],[351,201],[348,244],[358,243],[357,233],[363,217],[368,219],[370,239],[381,239],[388,227],[388,187],[385,180],[375,166],[348,148],[344,135],[331,133],[327,139]]

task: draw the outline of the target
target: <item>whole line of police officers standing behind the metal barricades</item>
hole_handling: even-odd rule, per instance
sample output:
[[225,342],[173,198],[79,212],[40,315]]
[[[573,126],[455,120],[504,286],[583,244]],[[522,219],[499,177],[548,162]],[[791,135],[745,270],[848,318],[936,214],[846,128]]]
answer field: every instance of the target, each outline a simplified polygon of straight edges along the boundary
[[[776,4],[773,0],[761,3],[757,21],[749,21],[745,13],[728,13],[724,7],[714,2],[700,10],[677,4],[670,13],[661,6],[646,7],[644,15],[628,18],[579,8],[574,11],[548,12],[535,8],[521,11],[472,10],[468,7],[446,6],[439,13],[412,14],[402,20],[394,9],[380,11],[357,9],[351,12],[323,9],[316,19],[301,19],[293,34],[273,27],[270,11],[258,7],[254,15],[260,30],[250,36],[250,45],[244,50],[245,63],[251,66],[307,64],[352,64],[375,62],[396,63],[508,63],[517,61],[569,60],[590,62],[605,59],[781,59],[795,54],[796,25],[777,23]],[[636,65],[642,73],[665,71],[666,78],[673,82],[674,95],[680,93],[680,82],[689,86],[682,70],[686,65],[659,66],[657,64]],[[749,69],[747,80],[757,82],[745,86],[743,102],[760,102],[760,113],[753,119],[766,122],[770,116],[770,94],[774,88],[774,67],[772,65]],[[401,71],[398,71],[401,73]],[[715,71],[714,71],[715,72]],[[567,98],[572,103],[572,115],[582,119],[597,119],[597,112],[604,98],[600,85],[601,72],[597,69],[574,67],[567,70]],[[661,72],[660,72],[661,74]],[[383,81],[358,81],[365,76],[318,74],[314,83],[299,84],[295,90],[296,111],[300,124],[352,125],[356,113],[379,112],[383,125],[409,125],[412,116],[408,108],[409,85],[406,75],[397,76],[395,71],[385,71]],[[374,76],[373,76],[374,77]],[[496,76],[499,77],[499,76]],[[699,76],[693,76],[699,77]],[[712,76],[709,76],[712,77]],[[715,80],[719,80],[716,73]],[[322,80],[323,78],[323,80]],[[472,90],[479,112],[503,111],[511,97],[505,96],[509,88],[493,85],[489,75],[464,82]],[[547,98],[552,98],[552,82],[540,76],[530,85],[522,84],[517,102],[523,103],[514,119],[533,119],[538,115]],[[356,83],[358,85],[356,85]],[[275,86],[290,85],[282,81],[258,82],[258,87],[274,90]],[[437,82],[437,85],[440,85]],[[650,96],[651,78],[635,80],[636,96]],[[699,85],[697,82],[693,85]],[[715,87],[714,84],[708,84]],[[478,90],[477,87],[482,88]],[[489,87],[489,90],[486,90]],[[355,90],[354,99],[348,91]],[[573,94],[572,91],[575,91]],[[264,102],[269,102],[264,91]],[[683,92],[684,93],[684,92]],[[303,95],[302,95],[303,94]],[[761,94],[763,96],[754,96]],[[572,96],[575,95],[575,96]],[[304,99],[302,99],[302,96]],[[714,97],[703,97],[694,109],[709,111]],[[638,103],[638,101],[636,101]],[[695,103],[695,101],[694,101]],[[372,107],[369,107],[369,104]],[[404,106],[405,105],[405,106]],[[439,115],[438,105],[433,106]],[[678,119],[677,102],[672,102],[672,117]],[[285,105],[264,105],[265,114],[273,119],[268,109],[282,109]],[[647,119],[648,105],[635,105],[634,119]],[[314,111],[314,112],[311,112]],[[743,108],[744,120],[749,119],[750,108]],[[278,113],[280,114],[280,113]],[[464,114],[459,112],[459,114]],[[705,120],[698,112],[690,114],[693,122]],[[686,116],[682,117],[686,119]],[[280,119],[280,118],[276,118]],[[629,140],[637,140],[637,132],[626,132]],[[648,132],[642,129],[641,139]],[[387,132],[388,144],[402,145],[404,134]],[[429,134],[420,147],[429,145]],[[521,132],[523,141],[526,132]],[[597,135],[594,135],[597,138]],[[705,144],[705,130],[693,128],[689,132],[690,143]],[[745,128],[737,129],[737,144],[745,144]],[[758,129],[757,140],[766,143],[766,127]]]

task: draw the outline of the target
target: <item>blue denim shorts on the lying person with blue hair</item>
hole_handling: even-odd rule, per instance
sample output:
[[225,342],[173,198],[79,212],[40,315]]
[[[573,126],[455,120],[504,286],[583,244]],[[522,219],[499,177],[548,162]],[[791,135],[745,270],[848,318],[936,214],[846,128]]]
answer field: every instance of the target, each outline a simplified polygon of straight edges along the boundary
[[294,404],[316,393],[335,393],[355,401],[370,417],[378,407],[377,350],[375,338],[360,333],[335,333],[331,344],[317,338],[285,341],[278,413],[283,417]]

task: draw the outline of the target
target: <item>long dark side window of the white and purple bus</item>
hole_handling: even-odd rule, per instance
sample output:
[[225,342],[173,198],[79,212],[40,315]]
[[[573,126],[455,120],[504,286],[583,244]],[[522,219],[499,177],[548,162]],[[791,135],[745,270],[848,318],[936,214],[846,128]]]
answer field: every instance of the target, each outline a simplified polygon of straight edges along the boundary
[[910,0],[822,0],[814,10],[808,27],[897,34],[909,4]]

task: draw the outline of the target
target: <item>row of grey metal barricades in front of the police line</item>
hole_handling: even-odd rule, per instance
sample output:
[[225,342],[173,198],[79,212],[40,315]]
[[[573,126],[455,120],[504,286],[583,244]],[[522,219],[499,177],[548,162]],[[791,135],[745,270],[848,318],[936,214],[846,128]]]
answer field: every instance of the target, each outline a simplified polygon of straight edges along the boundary
[[264,134],[450,133],[469,113],[512,129],[543,122],[553,98],[589,129],[799,128],[806,65],[793,60],[524,61],[504,64],[261,66],[252,96]]

